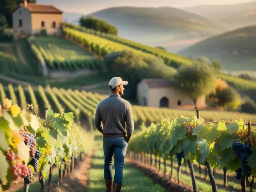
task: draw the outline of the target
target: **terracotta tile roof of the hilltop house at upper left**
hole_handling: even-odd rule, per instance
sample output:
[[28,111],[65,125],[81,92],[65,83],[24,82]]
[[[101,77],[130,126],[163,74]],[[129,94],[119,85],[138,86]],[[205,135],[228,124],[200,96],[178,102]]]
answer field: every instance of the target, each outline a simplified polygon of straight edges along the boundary
[[[20,6],[24,7],[24,4],[21,3]],[[63,13],[61,10],[57,9],[52,5],[40,5],[36,3],[28,3],[27,8],[31,13]]]

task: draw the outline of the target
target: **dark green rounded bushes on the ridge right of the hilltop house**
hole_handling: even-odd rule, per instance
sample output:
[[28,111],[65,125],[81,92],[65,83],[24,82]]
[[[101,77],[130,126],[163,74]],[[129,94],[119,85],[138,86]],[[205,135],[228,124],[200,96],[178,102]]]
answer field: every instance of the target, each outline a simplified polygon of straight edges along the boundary
[[100,31],[106,34],[117,35],[118,33],[117,29],[113,25],[110,25],[107,22],[94,17],[82,16],[79,20],[79,23],[83,27]]

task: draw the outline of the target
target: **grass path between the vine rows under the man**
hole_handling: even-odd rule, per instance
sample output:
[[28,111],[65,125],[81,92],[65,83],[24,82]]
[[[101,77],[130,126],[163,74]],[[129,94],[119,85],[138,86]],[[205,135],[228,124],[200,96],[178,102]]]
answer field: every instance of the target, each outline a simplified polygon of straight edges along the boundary
[[[89,179],[87,183],[87,192],[105,191],[104,183],[104,153],[102,146],[102,135],[95,131],[95,141],[93,148],[93,158],[91,169],[89,170]],[[114,176],[114,162],[113,162]],[[153,184],[150,178],[136,169],[129,163],[125,162],[122,191],[137,191],[137,192],[164,192],[164,188]]]

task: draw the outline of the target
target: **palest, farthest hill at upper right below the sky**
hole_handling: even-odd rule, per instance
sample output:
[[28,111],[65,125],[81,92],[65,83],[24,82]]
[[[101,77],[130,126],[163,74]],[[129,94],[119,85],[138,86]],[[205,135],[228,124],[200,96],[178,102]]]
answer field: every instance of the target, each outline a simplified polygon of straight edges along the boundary
[[199,14],[231,29],[256,24],[256,1],[231,5],[200,5],[182,9]]

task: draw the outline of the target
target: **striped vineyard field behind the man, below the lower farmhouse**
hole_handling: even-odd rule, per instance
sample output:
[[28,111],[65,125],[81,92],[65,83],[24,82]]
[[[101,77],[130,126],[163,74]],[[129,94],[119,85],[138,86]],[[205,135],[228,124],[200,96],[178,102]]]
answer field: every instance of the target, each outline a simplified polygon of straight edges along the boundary
[[[27,87],[18,86],[14,87],[11,84],[8,87],[3,87],[0,84],[1,101],[3,98],[8,97],[12,101],[18,103],[23,108],[26,108],[27,103],[32,103],[38,114],[43,115],[45,109],[53,109],[56,111],[74,111],[78,112],[79,109],[81,115],[87,115],[90,118],[94,118],[94,113],[97,104],[102,99],[108,97],[108,95],[100,95],[97,93],[91,93],[78,90],[65,90],[46,87]],[[142,122],[156,122],[165,118],[178,118],[180,115],[193,116],[194,111],[187,110],[175,110],[175,109],[163,109],[152,108],[143,106],[132,106],[134,122],[141,124]],[[235,112],[225,111],[201,111],[200,116],[206,121],[212,121],[214,118],[211,114],[216,114],[225,120],[239,120],[239,116]],[[256,121],[256,115],[242,114],[243,118],[250,121]]]

